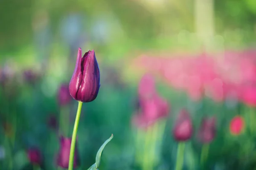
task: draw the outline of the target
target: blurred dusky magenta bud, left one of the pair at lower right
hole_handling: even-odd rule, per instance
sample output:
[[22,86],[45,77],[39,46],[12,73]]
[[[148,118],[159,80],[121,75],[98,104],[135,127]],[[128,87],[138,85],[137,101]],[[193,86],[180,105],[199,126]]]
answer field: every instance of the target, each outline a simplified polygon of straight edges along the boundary
[[193,125],[189,112],[181,110],[173,130],[173,136],[176,141],[184,142],[191,138],[193,134]]

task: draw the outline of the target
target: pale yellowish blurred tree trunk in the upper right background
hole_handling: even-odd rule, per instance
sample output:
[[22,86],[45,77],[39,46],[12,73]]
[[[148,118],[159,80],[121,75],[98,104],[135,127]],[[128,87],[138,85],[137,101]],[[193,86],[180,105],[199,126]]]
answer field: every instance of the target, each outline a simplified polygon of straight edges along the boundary
[[195,0],[195,30],[204,47],[214,36],[214,0]]

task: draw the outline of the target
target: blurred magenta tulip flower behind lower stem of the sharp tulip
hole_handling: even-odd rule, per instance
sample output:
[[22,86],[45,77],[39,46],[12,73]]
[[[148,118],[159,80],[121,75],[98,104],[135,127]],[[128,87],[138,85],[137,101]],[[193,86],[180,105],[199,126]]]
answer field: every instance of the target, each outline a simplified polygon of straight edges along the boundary
[[[57,164],[62,168],[68,168],[71,141],[72,141],[72,138],[66,138],[64,136],[60,137],[60,149],[58,153]],[[79,164],[80,164],[79,155],[78,155],[77,146],[76,146],[73,167],[76,168],[79,166]]]

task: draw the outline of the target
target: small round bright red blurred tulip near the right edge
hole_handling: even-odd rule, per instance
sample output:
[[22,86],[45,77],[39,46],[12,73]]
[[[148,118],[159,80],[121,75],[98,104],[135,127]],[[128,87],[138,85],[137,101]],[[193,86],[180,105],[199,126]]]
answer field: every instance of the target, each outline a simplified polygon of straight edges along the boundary
[[239,135],[244,129],[244,118],[241,116],[235,116],[230,122],[230,133],[233,135]]

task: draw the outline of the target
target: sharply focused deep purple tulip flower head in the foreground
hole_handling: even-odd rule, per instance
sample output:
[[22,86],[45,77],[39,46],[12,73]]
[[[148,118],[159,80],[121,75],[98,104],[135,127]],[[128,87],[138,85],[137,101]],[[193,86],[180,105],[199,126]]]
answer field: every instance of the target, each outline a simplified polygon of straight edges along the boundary
[[92,102],[98,95],[99,87],[99,66],[94,51],[88,51],[82,57],[79,48],[69,85],[70,95],[77,101]]

